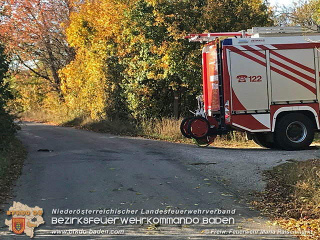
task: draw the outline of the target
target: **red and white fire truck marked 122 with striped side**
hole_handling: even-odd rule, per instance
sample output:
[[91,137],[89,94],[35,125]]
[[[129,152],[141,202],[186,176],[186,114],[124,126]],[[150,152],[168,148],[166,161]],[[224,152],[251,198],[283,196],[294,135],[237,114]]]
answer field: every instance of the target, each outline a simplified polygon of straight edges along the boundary
[[320,33],[315,27],[253,27],[189,34],[202,49],[203,95],[181,132],[198,144],[245,131],[267,148],[307,148],[319,126]]

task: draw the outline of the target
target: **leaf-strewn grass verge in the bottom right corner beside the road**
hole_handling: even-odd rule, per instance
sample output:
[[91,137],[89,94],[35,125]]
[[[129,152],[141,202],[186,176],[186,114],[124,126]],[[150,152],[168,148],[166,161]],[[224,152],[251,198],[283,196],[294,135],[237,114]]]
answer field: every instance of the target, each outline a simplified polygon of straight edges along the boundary
[[264,172],[267,186],[252,203],[300,239],[320,239],[320,159],[288,162]]

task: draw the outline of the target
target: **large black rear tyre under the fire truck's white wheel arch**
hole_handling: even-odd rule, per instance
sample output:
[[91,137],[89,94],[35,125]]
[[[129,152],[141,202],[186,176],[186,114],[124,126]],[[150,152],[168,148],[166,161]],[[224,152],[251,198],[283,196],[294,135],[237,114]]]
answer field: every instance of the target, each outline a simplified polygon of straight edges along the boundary
[[289,113],[275,125],[276,143],[285,150],[307,148],[314,138],[312,121],[301,113]]

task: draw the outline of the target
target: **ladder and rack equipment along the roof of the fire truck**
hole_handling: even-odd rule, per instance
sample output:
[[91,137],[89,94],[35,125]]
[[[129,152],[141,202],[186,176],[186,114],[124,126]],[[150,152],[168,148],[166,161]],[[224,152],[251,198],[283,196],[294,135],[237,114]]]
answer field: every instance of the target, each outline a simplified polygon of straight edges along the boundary
[[266,26],[231,32],[190,33],[184,36],[189,41],[209,42],[217,37],[270,37],[270,36],[298,36],[320,35],[317,26]]

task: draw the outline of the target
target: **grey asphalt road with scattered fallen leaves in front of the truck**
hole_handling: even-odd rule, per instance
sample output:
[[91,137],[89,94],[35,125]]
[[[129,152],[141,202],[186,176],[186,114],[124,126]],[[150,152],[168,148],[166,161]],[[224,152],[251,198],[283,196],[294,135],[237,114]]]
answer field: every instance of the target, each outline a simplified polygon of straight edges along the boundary
[[[295,152],[262,148],[203,149],[39,123],[22,124],[18,136],[28,149],[28,157],[13,188],[14,197],[1,208],[7,210],[13,200],[43,208],[45,223],[34,231],[38,239],[296,239],[283,234],[215,234],[214,229],[277,231],[279,228],[267,225],[268,219],[252,210],[244,197],[250,191],[263,189],[262,170],[287,159],[303,160],[320,155],[316,147]],[[235,214],[227,215],[234,217],[235,223],[161,224],[156,229],[148,229],[147,224],[51,224],[51,217],[67,216],[53,214],[53,208],[138,210],[135,215],[98,217],[150,215],[142,214],[141,208],[235,209]],[[24,234],[8,231],[5,217],[5,214],[0,216],[1,239],[29,239]],[[54,229],[70,228],[124,230],[125,235],[52,235]]]

